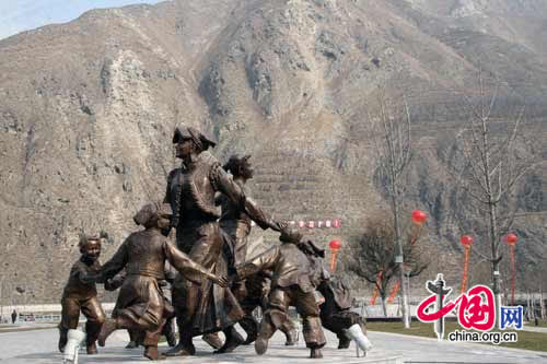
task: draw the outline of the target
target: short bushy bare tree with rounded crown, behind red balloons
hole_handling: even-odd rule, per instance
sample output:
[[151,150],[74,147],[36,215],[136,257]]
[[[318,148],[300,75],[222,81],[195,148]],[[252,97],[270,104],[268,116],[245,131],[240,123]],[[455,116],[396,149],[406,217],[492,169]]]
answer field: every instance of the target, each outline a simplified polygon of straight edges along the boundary
[[[409,277],[419,275],[429,265],[416,244],[420,233],[419,226],[412,225],[403,244],[405,274]],[[400,271],[400,265],[395,262],[397,254],[393,214],[385,211],[366,221],[364,232],[350,242],[347,254],[347,269],[379,290],[384,316],[387,316],[385,301],[391,282],[397,279]]]

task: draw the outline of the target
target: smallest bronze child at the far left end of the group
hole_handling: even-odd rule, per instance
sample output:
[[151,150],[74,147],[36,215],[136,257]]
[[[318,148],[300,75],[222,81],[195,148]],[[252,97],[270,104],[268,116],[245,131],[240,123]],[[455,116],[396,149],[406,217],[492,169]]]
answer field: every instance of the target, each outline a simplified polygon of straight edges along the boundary
[[59,351],[62,352],[68,340],[68,330],[75,329],[80,310],[88,318],[85,322],[88,354],[96,354],[95,341],[105,320],[103,308],[97,300],[95,282],[98,281],[101,263],[101,239],[96,236],[82,236],[80,243],[81,257],[70,270],[69,281],[61,298],[61,322],[59,324]]

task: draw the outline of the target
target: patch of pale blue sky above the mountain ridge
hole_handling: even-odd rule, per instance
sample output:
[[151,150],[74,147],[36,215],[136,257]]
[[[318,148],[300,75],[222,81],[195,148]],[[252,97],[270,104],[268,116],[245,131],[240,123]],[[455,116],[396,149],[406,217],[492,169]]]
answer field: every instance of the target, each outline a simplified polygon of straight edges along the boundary
[[66,23],[97,8],[118,8],[160,0],[0,0],[0,39],[47,24]]

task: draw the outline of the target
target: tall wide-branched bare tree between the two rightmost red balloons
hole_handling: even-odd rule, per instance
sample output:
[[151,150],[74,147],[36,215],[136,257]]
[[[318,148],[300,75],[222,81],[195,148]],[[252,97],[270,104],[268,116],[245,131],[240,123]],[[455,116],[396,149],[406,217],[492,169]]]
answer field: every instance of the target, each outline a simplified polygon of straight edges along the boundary
[[[486,236],[485,246],[474,251],[491,263],[492,291],[497,307],[500,294],[500,244],[512,228],[516,211],[515,195],[521,177],[534,165],[524,158],[516,143],[523,122],[524,107],[511,110],[516,96],[494,77],[479,71],[477,87],[458,92],[462,98],[457,115],[465,127],[456,134],[457,152],[463,163],[455,166],[461,208],[478,236]],[[482,249],[481,249],[482,248]]]

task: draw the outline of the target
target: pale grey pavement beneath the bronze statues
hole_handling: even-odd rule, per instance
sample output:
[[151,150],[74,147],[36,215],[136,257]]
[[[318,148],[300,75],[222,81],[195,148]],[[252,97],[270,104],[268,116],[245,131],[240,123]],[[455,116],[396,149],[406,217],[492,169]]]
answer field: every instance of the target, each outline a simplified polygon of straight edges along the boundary
[[[38,324],[36,324],[38,325]],[[30,327],[27,327],[30,328]],[[267,353],[263,356],[256,355],[254,347],[240,347],[234,353],[213,355],[212,349],[200,338],[195,339],[197,355],[191,357],[170,357],[163,363],[182,364],[232,364],[232,363],[385,363],[385,364],[418,364],[418,363],[491,363],[491,364],[521,364],[521,363],[546,363],[546,352],[534,352],[527,350],[507,349],[501,347],[439,342],[435,339],[418,338],[411,336],[369,332],[369,338],[374,349],[366,357],[357,357],[354,344],[348,350],[337,350],[337,339],[325,331],[327,345],[323,350],[323,360],[310,360],[309,349],[305,348],[303,339],[300,338],[296,347],[284,347],[284,337],[277,332],[270,341]],[[57,329],[42,329],[33,331],[1,332],[0,330],[0,363],[20,364],[36,363],[50,364],[61,363],[62,356],[57,351]],[[106,342],[105,348],[98,348],[97,355],[88,356],[84,351],[80,352],[79,363],[89,364],[135,364],[149,362],[142,355],[142,349],[127,350],[124,347],[128,341],[126,331],[119,330],[113,333]],[[546,342],[547,344],[547,342]],[[162,345],[166,351],[167,347]]]

